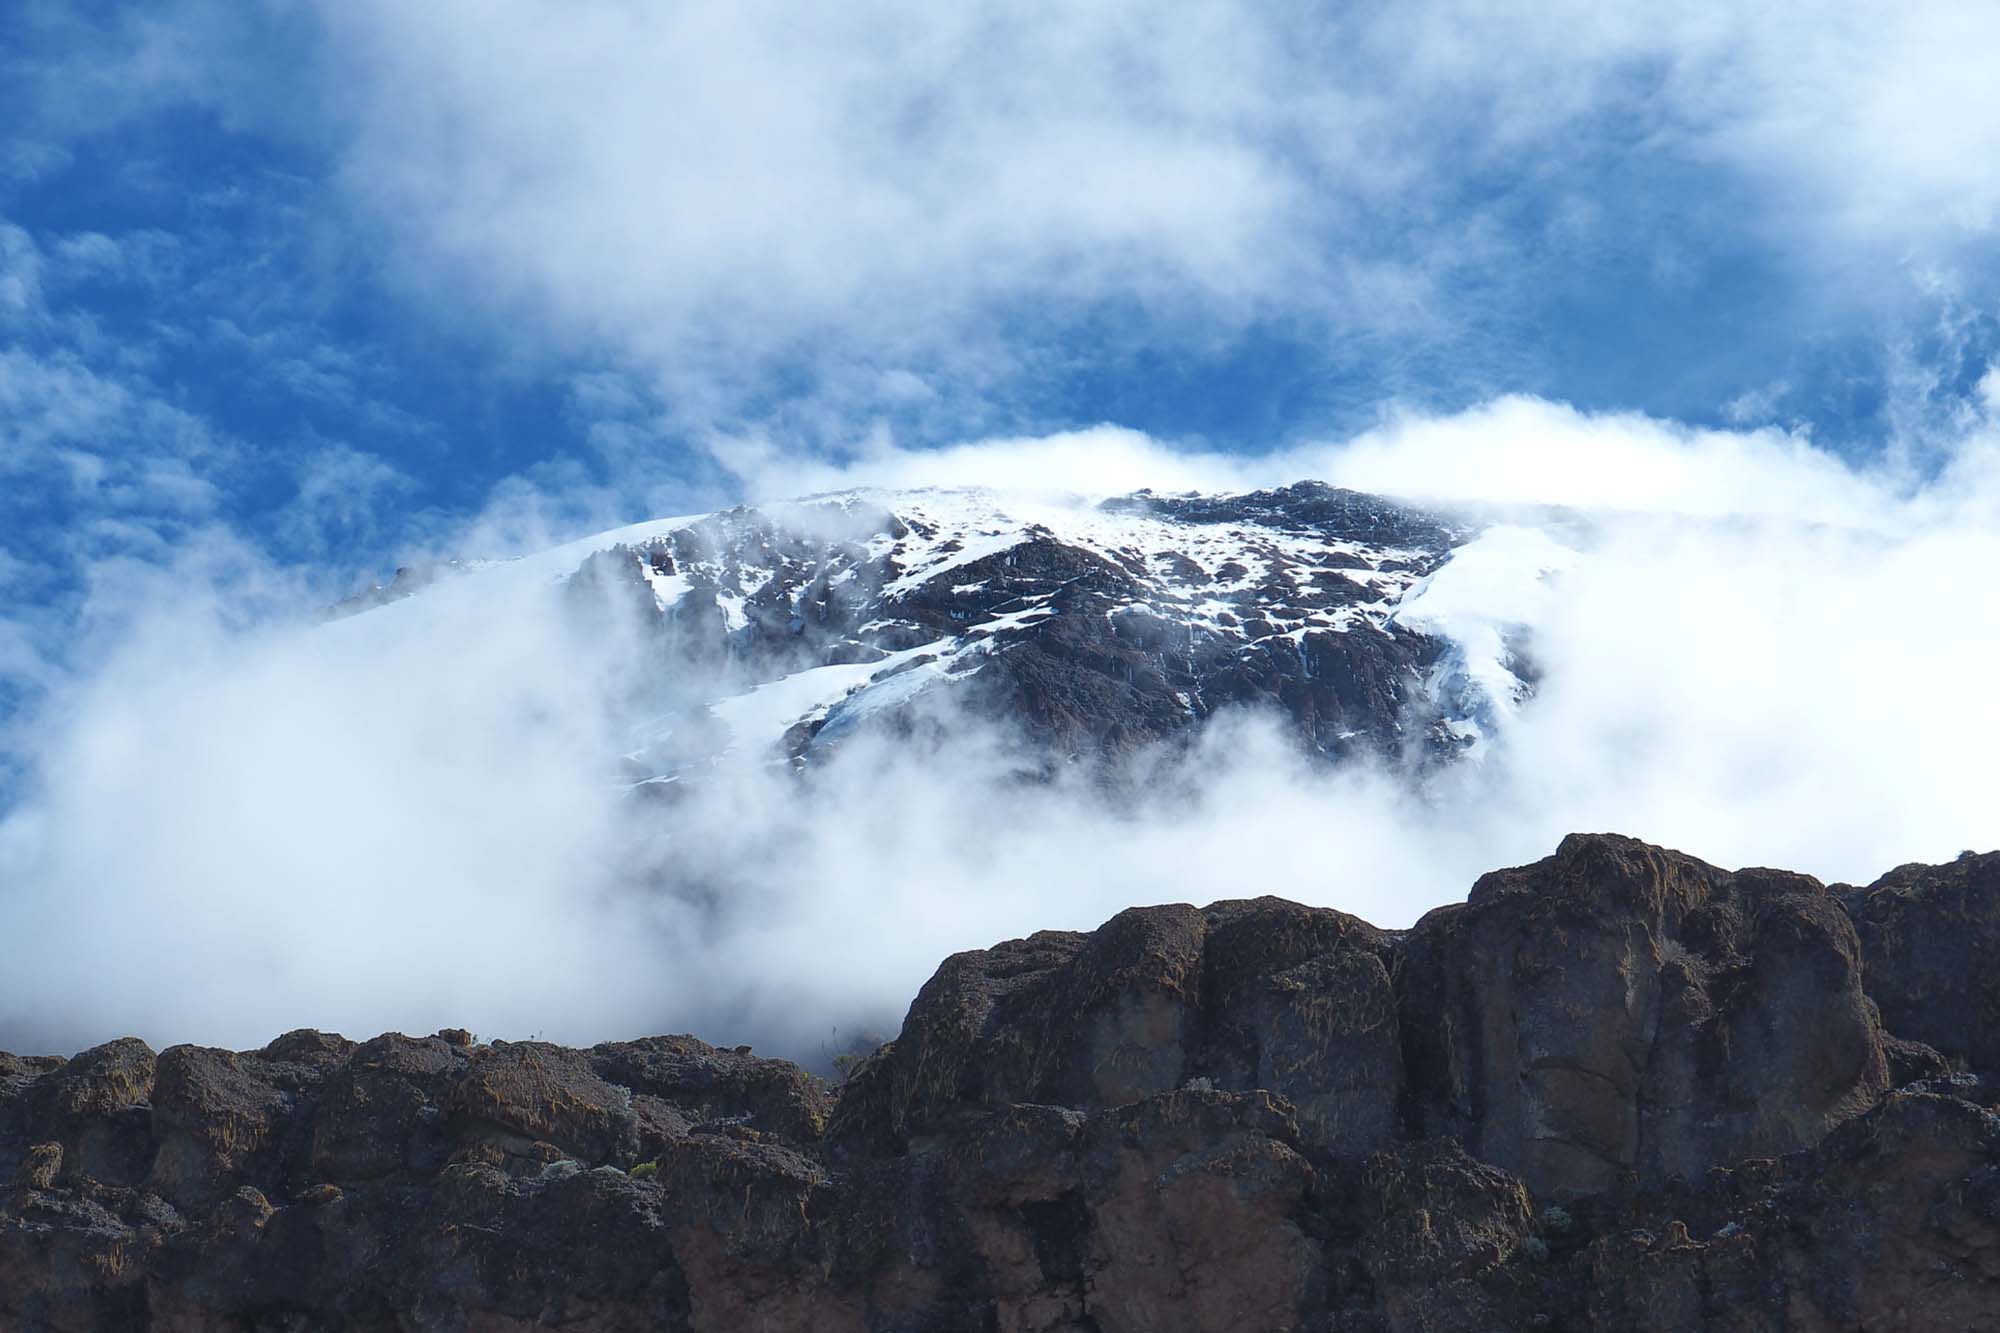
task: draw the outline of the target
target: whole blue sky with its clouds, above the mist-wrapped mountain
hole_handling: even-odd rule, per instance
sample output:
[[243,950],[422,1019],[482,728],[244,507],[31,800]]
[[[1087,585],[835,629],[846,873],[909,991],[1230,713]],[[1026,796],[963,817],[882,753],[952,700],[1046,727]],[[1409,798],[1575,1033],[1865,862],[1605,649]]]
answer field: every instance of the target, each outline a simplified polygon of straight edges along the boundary
[[0,711],[134,568],[338,594],[884,432],[1534,394],[1920,476],[2000,20],[1732,8],[10,4]]

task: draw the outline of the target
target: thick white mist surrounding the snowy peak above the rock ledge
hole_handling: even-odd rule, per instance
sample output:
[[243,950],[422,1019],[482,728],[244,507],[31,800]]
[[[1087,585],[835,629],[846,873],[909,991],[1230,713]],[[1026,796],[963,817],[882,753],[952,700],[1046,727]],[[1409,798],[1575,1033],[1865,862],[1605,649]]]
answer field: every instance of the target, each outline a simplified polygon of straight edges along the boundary
[[916,737],[806,777],[736,755],[646,801],[616,773],[634,729],[724,683],[580,616],[548,560],[328,622],[278,562],[154,570],[18,729],[0,1047],[450,1025],[824,1061],[892,1035],[944,955],[1140,903],[1274,893],[1404,927],[1570,831],[1830,881],[2000,845],[1988,416],[1928,474],[1522,398],[1266,456],[1098,430],[790,470],[1084,496],[1300,476],[1494,522],[1404,616],[1468,656],[1504,634],[1540,683],[1422,787],[1254,713],[1118,781],[1030,781],[942,691]]

